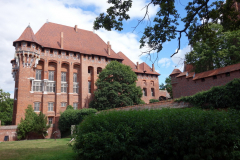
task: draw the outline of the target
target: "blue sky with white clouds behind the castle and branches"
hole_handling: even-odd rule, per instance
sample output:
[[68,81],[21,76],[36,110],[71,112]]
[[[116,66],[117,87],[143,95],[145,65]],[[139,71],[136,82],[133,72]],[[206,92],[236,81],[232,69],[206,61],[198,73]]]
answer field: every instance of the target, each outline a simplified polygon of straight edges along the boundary
[[[149,56],[142,54],[146,48],[140,49],[144,28],[148,21],[141,23],[136,30],[138,20],[142,19],[145,10],[144,6],[149,0],[133,0],[133,7],[130,9],[130,20],[124,21],[123,30],[106,31],[100,29],[94,31],[105,42],[110,41],[112,49],[117,53],[122,51],[134,63],[146,62],[152,66]],[[177,0],[176,7],[181,17],[184,17],[186,0]],[[25,28],[30,25],[36,33],[47,21],[66,26],[78,25],[78,28],[93,31],[95,18],[110,5],[107,0],[0,0],[0,88],[9,92],[13,98],[14,80],[11,74],[10,60],[14,58],[15,49],[13,41],[18,39]],[[150,6],[149,17],[152,20],[156,15],[158,7]],[[178,54],[170,56],[177,49],[177,40],[167,42],[163,45],[160,53],[152,53],[151,59],[155,61],[155,69],[161,75],[159,83],[165,83],[166,77],[171,74],[174,68],[183,69],[184,55],[190,51],[187,38],[183,36],[181,49]]]

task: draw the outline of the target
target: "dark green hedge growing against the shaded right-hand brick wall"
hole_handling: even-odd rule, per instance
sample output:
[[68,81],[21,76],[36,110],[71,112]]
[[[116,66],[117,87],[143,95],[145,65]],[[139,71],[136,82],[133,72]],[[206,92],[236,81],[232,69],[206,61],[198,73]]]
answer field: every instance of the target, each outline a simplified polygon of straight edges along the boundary
[[215,86],[208,91],[198,92],[192,96],[181,97],[175,101],[189,102],[201,108],[240,109],[240,79],[234,79],[224,86]]

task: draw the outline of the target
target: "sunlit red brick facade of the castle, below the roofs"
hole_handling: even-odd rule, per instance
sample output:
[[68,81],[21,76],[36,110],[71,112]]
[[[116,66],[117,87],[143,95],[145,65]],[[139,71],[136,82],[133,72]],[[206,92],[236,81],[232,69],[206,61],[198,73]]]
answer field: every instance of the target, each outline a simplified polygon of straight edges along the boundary
[[[30,48],[29,51],[34,51],[33,48],[23,47],[23,45],[16,47],[17,50],[19,48],[25,51],[25,61],[28,54],[27,48]],[[58,52],[54,52],[54,50],[50,51],[50,49],[45,49],[43,52],[40,52],[41,59],[36,68],[24,67],[23,56],[22,53],[20,53],[20,66],[15,79],[15,88],[18,89],[14,95],[15,101],[13,110],[13,124],[17,125],[20,123],[21,118],[24,119],[25,109],[27,109],[28,105],[32,105],[34,107],[34,102],[41,102],[40,111],[43,112],[43,114],[45,114],[47,117],[53,118],[59,117],[60,113],[66,110],[66,107],[61,107],[61,102],[66,102],[67,105],[78,103],[78,109],[88,108],[89,102],[93,99],[94,90],[97,89],[95,86],[95,82],[98,78],[97,69],[104,69],[109,63],[110,59],[106,60],[105,57],[100,57],[99,60],[99,56],[88,56],[81,54],[78,57],[77,55],[71,54],[71,52],[69,52],[68,55],[65,51],[61,51],[61,54]],[[88,74],[88,67],[92,68],[91,77],[89,77]],[[36,69],[42,69],[41,79],[43,81],[48,80],[49,70],[55,71],[55,92],[31,92],[32,83],[29,78],[35,78]],[[67,93],[61,93],[61,72],[67,72]],[[73,73],[78,73],[78,93],[73,93]],[[143,80],[146,80],[146,84],[143,83]],[[88,81],[91,81],[91,93],[88,93]],[[142,89],[147,88],[147,96],[143,96],[142,98],[146,103],[149,103],[150,99],[159,98],[159,83],[157,76],[138,76],[137,86],[140,86]],[[154,96],[151,95],[151,88],[154,88]],[[53,111],[48,111],[49,102],[54,102]],[[54,122],[53,124],[56,125],[57,122]]]

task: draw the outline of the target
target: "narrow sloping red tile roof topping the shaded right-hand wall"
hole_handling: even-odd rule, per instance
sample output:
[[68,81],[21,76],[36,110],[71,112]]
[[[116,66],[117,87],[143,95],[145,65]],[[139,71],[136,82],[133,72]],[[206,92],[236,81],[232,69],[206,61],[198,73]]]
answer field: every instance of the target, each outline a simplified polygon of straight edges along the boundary
[[195,77],[193,78],[193,80],[197,80],[200,78],[206,78],[206,77],[223,74],[223,73],[227,73],[227,72],[232,72],[232,71],[236,71],[236,70],[240,70],[240,63],[229,65],[229,66],[218,68],[218,69],[214,69],[214,70],[210,70],[210,71],[206,71],[206,72],[202,72],[202,73],[197,73],[197,74],[195,74]]

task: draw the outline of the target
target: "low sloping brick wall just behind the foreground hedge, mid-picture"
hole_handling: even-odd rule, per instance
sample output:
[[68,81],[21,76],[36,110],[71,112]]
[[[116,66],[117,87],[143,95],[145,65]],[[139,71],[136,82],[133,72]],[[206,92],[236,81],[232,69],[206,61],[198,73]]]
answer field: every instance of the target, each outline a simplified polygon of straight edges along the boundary
[[150,104],[141,104],[127,107],[120,107],[111,110],[142,110],[142,109],[161,109],[161,108],[189,108],[191,105],[187,102],[174,102],[174,100],[160,101]]

